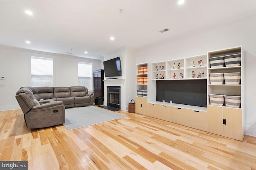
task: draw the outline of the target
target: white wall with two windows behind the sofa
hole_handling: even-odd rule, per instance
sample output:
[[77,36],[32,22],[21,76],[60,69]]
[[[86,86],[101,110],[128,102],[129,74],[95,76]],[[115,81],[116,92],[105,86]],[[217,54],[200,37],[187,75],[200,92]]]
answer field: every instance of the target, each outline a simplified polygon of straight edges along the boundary
[[0,86],[0,111],[20,108],[15,94],[20,87],[31,86],[31,56],[54,59],[54,86],[77,86],[78,62],[93,63],[92,70],[103,69],[102,61],[99,60],[13,47],[0,46],[0,54],[0,76],[6,77],[5,86]]

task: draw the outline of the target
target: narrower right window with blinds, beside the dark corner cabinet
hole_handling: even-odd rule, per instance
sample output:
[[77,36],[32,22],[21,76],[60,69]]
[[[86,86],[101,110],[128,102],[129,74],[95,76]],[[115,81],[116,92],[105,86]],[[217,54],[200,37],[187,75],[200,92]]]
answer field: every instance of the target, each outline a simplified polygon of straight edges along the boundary
[[92,63],[78,62],[78,86],[92,90]]

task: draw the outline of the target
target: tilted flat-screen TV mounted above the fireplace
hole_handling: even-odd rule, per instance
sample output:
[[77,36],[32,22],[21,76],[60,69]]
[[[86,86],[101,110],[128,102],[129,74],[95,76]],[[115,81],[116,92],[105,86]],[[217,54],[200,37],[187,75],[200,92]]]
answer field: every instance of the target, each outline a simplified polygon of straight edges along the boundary
[[105,77],[122,76],[120,57],[103,62]]

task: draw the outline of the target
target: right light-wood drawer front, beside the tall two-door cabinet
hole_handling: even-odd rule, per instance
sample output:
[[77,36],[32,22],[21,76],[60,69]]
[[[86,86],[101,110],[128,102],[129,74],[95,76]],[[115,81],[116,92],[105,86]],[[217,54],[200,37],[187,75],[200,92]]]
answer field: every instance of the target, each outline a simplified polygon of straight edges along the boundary
[[172,106],[172,122],[207,131],[207,112]]

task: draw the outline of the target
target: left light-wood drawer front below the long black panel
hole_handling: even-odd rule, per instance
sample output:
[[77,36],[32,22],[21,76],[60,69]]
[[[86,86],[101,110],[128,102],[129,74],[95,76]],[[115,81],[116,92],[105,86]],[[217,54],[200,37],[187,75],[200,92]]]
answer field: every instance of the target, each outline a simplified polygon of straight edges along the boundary
[[171,106],[148,103],[148,116],[171,121]]

